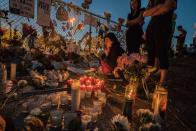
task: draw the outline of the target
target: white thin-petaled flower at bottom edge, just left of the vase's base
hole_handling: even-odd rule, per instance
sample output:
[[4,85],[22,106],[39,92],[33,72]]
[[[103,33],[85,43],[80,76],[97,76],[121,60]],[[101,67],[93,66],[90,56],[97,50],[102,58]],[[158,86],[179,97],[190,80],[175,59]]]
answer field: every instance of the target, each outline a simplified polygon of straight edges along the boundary
[[129,123],[127,117],[124,117],[124,116],[118,114],[118,115],[114,116],[111,121],[113,124],[120,123],[124,127],[124,129],[126,129],[127,131],[130,131],[130,123]]

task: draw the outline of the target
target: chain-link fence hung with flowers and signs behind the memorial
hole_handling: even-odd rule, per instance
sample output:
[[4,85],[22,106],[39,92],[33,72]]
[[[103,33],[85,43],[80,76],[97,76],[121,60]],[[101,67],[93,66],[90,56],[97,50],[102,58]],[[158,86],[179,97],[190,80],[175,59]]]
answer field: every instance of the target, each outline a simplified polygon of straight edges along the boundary
[[[8,13],[8,19],[2,19],[1,18],[1,27],[6,28],[10,30],[10,37],[12,37],[13,33],[11,30],[16,29],[17,31],[21,32],[22,34],[22,24],[26,23],[28,25],[31,25],[34,29],[36,29],[38,35],[43,34],[42,27],[37,24],[37,15],[36,15],[36,5],[35,1],[35,17],[33,19],[15,15],[12,13]],[[57,18],[57,12],[59,8],[62,8],[64,11],[67,11],[69,19],[74,19],[72,23],[70,24],[70,21],[60,21]],[[9,11],[9,0],[0,0],[0,9],[1,10],[7,10]],[[97,25],[88,25],[84,24],[84,27],[82,29],[78,29],[77,27],[81,23],[85,23],[85,17],[87,15],[90,15],[92,19],[98,20]],[[85,47],[87,43],[87,38],[97,38],[98,34],[100,34],[100,30],[103,29],[104,27],[106,28],[105,25],[107,25],[107,28],[109,31],[113,31],[116,33],[117,37],[119,38],[122,46],[124,47],[125,45],[125,28],[123,27],[124,30],[121,31],[115,31],[114,26],[116,26],[118,23],[111,21],[108,23],[108,20],[100,15],[88,12],[87,10],[75,6],[71,3],[65,3],[65,2],[54,2],[52,3],[51,7],[51,22],[53,23],[53,26],[55,27],[55,31],[57,34],[60,34],[63,36],[65,39],[72,39],[77,41],[80,45],[83,45]],[[99,25],[98,25],[99,24]],[[103,26],[104,25],[104,26]],[[69,27],[68,27],[69,26]]]

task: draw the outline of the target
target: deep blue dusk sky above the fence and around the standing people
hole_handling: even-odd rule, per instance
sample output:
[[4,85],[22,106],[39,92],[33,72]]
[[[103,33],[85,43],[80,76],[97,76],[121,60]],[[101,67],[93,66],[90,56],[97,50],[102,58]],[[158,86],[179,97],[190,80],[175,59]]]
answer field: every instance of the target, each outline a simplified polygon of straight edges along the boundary
[[[65,2],[81,4],[83,0],[65,0]],[[92,0],[90,11],[102,15],[104,11],[112,14],[112,19],[117,20],[119,17],[126,18],[129,13],[129,0]],[[148,0],[142,0],[142,5],[145,7]],[[177,25],[183,25],[187,30],[186,43],[192,42],[193,25],[196,23],[196,0],[178,0],[177,9]],[[144,26],[144,29],[146,25]],[[178,32],[176,32],[178,33]]]

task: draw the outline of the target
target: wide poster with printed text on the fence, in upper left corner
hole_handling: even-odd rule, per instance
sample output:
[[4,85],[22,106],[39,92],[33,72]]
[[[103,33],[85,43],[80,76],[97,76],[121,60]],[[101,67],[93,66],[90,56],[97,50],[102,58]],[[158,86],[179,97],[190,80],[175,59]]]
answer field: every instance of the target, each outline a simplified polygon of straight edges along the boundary
[[10,12],[28,18],[33,18],[34,0],[10,0]]

